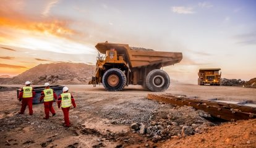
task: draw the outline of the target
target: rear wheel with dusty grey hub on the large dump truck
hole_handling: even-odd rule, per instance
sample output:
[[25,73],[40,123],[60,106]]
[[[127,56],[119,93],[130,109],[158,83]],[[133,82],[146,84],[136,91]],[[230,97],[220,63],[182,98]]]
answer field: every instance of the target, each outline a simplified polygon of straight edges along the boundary
[[146,86],[150,91],[165,91],[169,85],[169,75],[163,70],[152,70],[146,77]]

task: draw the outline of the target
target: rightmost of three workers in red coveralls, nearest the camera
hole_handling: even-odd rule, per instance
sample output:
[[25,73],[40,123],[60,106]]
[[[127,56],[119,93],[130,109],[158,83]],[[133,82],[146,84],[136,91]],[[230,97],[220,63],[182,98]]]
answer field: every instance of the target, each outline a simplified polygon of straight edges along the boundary
[[72,94],[70,94],[69,88],[64,87],[62,89],[63,93],[61,95],[59,95],[59,99],[58,99],[58,107],[62,109],[62,112],[64,113],[64,126],[69,127],[70,126],[70,122],[69,122],[69,109],[71,104],[74,106],[74,108],[77,106],[75,105],[75,99],[72,96]]

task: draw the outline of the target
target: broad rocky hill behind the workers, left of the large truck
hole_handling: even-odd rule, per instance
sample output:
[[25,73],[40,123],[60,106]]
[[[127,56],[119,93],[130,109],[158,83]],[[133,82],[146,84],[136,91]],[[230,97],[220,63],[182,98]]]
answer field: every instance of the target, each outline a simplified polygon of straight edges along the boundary
[[57,63],[40,64],[13,78],[0,78],[0,84],[88,84],[95,72],[94,65]]

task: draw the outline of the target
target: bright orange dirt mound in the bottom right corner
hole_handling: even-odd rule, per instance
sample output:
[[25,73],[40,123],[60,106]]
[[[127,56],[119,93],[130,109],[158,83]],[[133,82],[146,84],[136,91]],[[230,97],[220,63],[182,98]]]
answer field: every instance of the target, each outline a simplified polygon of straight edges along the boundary
[[255,147],[256,119],[224,123],[208,132],[182,139],[171,139],[159,147]]

